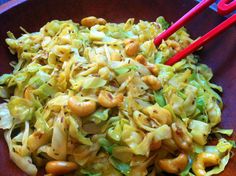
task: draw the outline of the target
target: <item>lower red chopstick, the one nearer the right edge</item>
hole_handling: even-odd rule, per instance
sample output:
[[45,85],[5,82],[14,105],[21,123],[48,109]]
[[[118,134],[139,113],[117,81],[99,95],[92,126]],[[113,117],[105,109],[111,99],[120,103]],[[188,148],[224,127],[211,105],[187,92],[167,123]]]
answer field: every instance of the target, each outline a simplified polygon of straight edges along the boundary
[[229,27],[231,27],[233,24],[236,23],[236,14],[229,17],[227,20],[213,28],[211,31],[206,33],[204,36],[196,40],[194,43],[189,45],[187,48],[183,49],[179,53],[177,53],[174,57],[170,58],[165,64],[166,65],[173,65],[182,58],[186,57],[190,53],[196,51],[200,46],[207,43],[209,40],[213,39],[215,36],[219,35],[221,32],[225,31]]

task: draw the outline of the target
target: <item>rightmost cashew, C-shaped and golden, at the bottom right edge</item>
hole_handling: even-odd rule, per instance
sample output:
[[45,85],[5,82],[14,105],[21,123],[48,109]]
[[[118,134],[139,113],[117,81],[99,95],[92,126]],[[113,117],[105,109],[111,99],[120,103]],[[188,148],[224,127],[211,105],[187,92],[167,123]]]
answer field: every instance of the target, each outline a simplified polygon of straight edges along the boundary
[[220,158],[216,154],[207,152],[199,153],[193,162],[192,169],[196,176],[204,176],[206,175],[206,167],[218,165],[219,162]]

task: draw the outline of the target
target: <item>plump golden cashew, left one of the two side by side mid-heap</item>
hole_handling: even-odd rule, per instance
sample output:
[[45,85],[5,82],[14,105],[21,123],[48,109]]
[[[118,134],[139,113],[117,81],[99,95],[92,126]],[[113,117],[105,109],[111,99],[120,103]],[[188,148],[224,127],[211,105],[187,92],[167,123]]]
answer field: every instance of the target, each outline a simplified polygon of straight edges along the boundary
[[80,102],[76,96],[73,96],[68,101],[68,107],[79,117],[85,117],[96,110],[96,103],[94,101]]

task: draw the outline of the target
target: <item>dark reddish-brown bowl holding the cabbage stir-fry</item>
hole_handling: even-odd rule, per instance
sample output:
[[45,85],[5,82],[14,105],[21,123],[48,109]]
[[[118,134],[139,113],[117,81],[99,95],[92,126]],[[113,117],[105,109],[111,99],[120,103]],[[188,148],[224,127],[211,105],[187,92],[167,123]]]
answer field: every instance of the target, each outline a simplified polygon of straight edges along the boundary
[[[19,26],[27,31],[38,31],[53,19],[72,19],[79,22],[85,16],[103,17],[111,22],[124,22],[127,18],[155,20],[162,15],[168,21],[176,21],[191,9],[194,0],[13,0],[0,6],[0,74],[10,72],[9,62],[16,59],[10,55],[4,39],[6,32],[20,34]],[[187,25],[196,38],[223,21],[224,18],[208,9]],[[202,62],[214,72],[214,82],[224,89],[224,110],[221,126],[236,130],[236,26],[214,39],[199,53]],[[236,157],[226,167],[224,176],[236,175]],[[0,132],[0,175],[22,176],[24,174],[10,161],[3,132]]]

